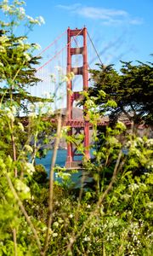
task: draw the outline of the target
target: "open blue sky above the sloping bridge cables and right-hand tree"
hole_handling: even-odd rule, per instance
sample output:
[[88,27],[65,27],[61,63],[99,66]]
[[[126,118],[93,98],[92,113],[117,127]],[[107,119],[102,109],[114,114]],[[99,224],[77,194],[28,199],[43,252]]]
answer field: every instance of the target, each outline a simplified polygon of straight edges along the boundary
[[152,0],[26,0],[26,13],[45,20],[29,34],[42,49],[68,26],[87,26],[101,60],[116,67],[119,60],[152,61],[152,9]]

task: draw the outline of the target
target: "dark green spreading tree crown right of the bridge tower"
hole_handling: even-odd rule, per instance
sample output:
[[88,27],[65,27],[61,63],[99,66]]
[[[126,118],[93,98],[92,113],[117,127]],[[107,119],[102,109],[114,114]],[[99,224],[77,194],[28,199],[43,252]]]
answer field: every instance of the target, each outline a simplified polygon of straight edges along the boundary
[[[112,122],[124,114],[136,125],[152,125],[152,63],[122,62],[119,73],[113,65],[98,66],[99,70],[90,70],[94,86],[89,96],[95,97],[99,110],[106,111]],[[115,101],[116,106],[111,105],[111,101]]]

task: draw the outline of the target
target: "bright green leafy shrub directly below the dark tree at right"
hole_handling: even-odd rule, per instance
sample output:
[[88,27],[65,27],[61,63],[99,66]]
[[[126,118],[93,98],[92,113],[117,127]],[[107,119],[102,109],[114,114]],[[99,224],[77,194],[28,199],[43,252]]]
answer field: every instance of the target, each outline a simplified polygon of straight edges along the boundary
[[132,172],[135,177],[152,170],[153,139],[126,136],[125,130],[126,126],[122,122],[118,122],[113,129],[106,127],[105,132],[101,133],[94,143],[93,159],[84,165],[86,176],[93,177],[93,181],[87,183],[87,186],[97,190],[97,195],[103,191],[105,184],[110,182],[120,152],[122,161],[119,172]]

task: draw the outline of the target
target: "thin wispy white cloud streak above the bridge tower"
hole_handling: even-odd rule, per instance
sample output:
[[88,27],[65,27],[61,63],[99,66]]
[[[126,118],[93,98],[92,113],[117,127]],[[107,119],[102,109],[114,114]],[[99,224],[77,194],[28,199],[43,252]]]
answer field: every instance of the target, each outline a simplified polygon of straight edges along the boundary
[[143,20],[140,18],[131,17],[127,11],[122,9],[104,9],[82,6],[80,3],[75,3],[71,5],[57,5],[60,9],[65,9],[72,14],[81,15],[82,17],[101,20],[102,24],[105,26],[121,25],[123,23],[131,25],[140,25]]

